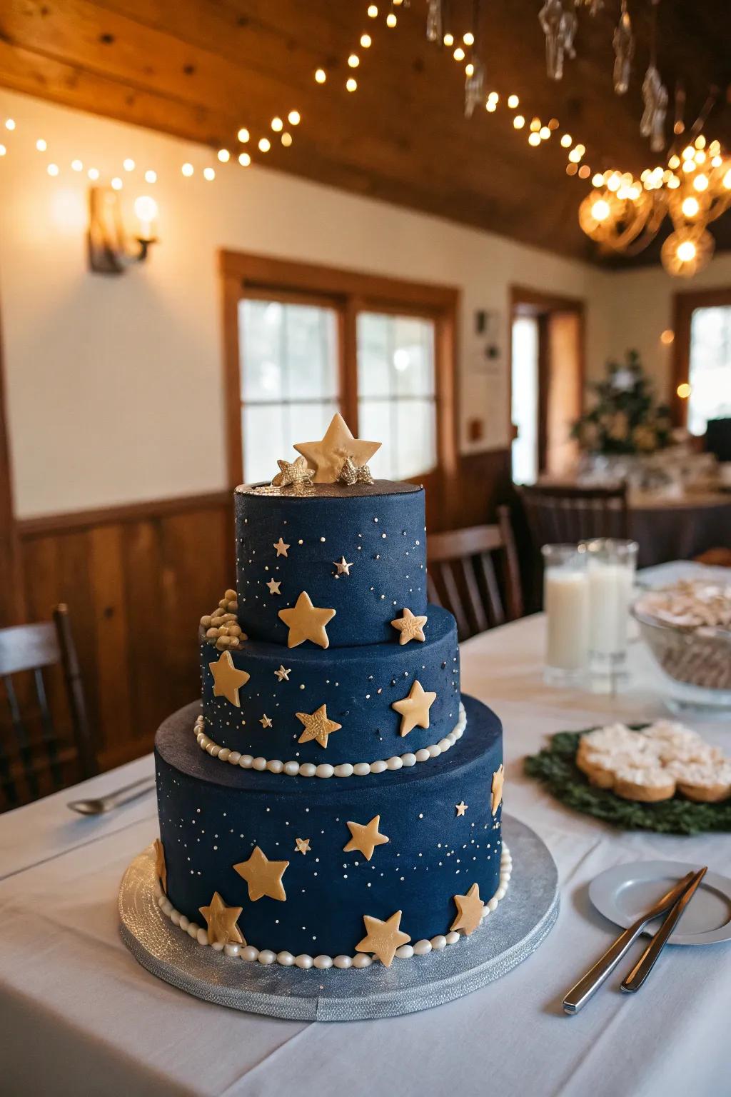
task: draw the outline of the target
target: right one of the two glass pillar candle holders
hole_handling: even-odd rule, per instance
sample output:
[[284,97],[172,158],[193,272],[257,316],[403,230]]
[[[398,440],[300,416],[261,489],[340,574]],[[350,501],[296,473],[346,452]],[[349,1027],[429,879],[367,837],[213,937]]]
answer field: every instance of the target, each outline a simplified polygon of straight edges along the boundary
[[613,689],[627,674],[627,626],[637,541],[601,538],[579,546],[589,584],[589,668],[594,682]]

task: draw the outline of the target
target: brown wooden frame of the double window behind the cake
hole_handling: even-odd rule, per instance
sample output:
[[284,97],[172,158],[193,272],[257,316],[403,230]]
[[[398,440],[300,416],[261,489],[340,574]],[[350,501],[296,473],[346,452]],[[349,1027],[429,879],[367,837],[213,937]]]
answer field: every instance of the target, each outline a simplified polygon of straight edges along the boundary
[[[239,373],[238,303],[242,294],[262,298],[276,295],[293,304],[320,304],[338,309],[340,323],[341,412],[353,433],[358,429],[356,320],[364,309],[407,313],[431,319],[435,326],[434,358],[437,410],[437,466],[444,483],[457,472],[457,317],[459,291],[429,282],[411,282],[364,274],[344,268],[219,252],[224,309],[224,398],[226,404],[226,460],[229,487],[241,479],[241,398]],[[429,472],[432,472],[431,470]],[[443,495],[443,493],[439,493]],[[443,496],[445,497],[445,496]]]

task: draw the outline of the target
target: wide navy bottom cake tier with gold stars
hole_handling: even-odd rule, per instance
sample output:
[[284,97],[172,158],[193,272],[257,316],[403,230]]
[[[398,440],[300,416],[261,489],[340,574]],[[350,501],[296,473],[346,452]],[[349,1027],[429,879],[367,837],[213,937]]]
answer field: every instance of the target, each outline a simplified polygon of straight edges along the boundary
[[221,765],[197,746],[199,705],[176,712],[156,738],[169,902],[205,926],[217,893],[242,908],[245,942],[293,957],[352,957],[397,912],[400,942],[473,928],[468,893],[487,902],[500,882],[502,728],[462,700],[467,732],[446,755],[329,781]]

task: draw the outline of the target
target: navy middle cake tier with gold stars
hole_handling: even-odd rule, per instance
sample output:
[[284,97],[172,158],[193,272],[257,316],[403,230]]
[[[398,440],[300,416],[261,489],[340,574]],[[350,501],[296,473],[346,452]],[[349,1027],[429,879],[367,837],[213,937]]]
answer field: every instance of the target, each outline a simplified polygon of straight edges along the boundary
[[256,759],[333,767],[434,747],[460,720],[459,648],[452,614],[427,613],[423,643],[219,652],[202,641],[205,735]]

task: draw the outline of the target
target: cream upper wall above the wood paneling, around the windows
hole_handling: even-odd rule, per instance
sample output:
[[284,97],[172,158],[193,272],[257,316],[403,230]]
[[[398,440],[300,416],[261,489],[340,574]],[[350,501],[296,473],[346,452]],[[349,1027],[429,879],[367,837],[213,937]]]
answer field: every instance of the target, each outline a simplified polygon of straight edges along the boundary
[[[225,486],[221,247],[456,285],[462,352],[473,309],[506,319],[511,283],[582,296],[591,371],[604,361],[605,302],[618,275],[279,172],[220,166],[199,146],[0,92],[0,118],[8,115],[16,129],[0,125],[0,307],[20,517]],[[45,154],[35,150],[38,137]],[[141,170],[125,177],[130,202],[149,191],[160,205],[161,242],[146,265],[118,278],[88,272],[89,184],[69,169],[75,157],[107,180],[124,176],[125,157],[158,172],[155,186]],[[49,159],[61,166],[57,179],[45,171]],[[186,180],[180,167],[189,159],[196,173]],[[217,169],[213,183],[202,178],[207,163]],[[462,436],[477,414],[487,422],[479,448],[503,446],[504,369],[495,381],[462,358]]]

